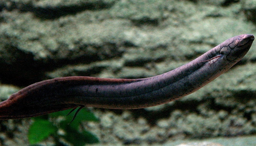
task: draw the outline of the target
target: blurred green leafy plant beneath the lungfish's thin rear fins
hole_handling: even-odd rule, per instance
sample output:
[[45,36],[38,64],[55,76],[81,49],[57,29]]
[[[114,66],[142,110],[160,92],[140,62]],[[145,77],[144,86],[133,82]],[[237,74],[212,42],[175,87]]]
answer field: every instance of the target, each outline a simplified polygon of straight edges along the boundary
[[[99,142],[95,135],[80,127],[81,121],[98,121],[94,114],[84,108],[76,115],[75,120],[69,123],[75,113],[67,115],[69,111],[70,109],[33,118],[34,122],[28,130],[29,143],[36,144],[50,135],[54,137],[56,145],[63,145],[60,139],[64,139],[74,146]],[[61,134],[59,131],[64,132]]]

